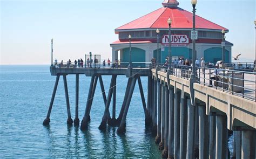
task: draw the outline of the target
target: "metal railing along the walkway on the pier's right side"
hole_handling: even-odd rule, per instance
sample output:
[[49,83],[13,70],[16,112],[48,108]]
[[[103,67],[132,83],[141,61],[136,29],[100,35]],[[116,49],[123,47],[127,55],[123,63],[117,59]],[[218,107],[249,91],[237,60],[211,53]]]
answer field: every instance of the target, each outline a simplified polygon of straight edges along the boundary
[[[167,72],[167,68],[164,64],[160,65],[161,72]],[[191,72],[192,66],[171,65],[171,74],[176,77],[188,80]],[[201,85],[256,102],[256,72],[197,67],[196,77]]]

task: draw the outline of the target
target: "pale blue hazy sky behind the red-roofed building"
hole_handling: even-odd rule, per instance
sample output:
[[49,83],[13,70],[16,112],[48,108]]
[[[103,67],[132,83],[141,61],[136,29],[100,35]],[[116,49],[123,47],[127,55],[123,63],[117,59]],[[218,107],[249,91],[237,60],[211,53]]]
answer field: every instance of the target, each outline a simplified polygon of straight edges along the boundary
[[[72,61],[90,51],[111,58],[114,29],[161,8],[163,0],[5,1],[0,0],[0,64],[50,64]],[[190,0],[179,7],[192,11]],[[255,59],[255,0],[198,0],[197,15],[230,30],[233,56]]]

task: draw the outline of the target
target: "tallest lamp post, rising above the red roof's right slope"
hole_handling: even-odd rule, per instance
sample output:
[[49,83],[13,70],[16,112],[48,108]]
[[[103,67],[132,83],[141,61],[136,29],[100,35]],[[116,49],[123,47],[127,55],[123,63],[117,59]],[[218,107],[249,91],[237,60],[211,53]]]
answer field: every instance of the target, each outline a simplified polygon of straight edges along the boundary
[[[191,4],[193,6],[193,31],[196,30],[196,5],[197,5],[197,0],[191,0]],[[193,43],[193,56],[192,56],[192,73],[190,74],[190,78],[195,80],[196,77],[196,39],[192,39]]]

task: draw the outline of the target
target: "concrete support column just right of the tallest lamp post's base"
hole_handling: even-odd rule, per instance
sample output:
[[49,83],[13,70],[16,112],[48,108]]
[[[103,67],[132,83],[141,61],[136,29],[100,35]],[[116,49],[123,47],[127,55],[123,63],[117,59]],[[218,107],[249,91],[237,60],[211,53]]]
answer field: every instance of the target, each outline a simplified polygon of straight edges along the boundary
[[199,158],[208,157],[208,116],[205,106],[199,108]]

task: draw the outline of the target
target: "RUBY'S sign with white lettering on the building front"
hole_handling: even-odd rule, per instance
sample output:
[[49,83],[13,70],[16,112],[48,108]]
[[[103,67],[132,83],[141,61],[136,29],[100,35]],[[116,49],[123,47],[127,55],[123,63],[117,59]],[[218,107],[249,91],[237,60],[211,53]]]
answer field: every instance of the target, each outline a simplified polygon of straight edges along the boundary
[[[171,44],[189,44],[190,41],[186,35],[173,34],[171,35]],[[169,35],[163,36],[162,44],[169,44]]]

